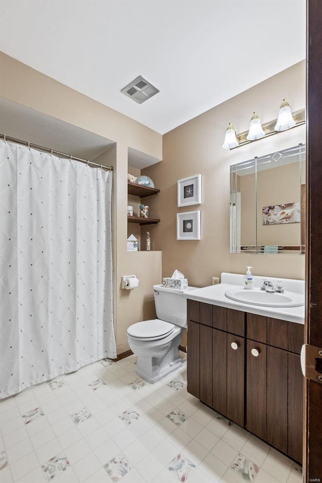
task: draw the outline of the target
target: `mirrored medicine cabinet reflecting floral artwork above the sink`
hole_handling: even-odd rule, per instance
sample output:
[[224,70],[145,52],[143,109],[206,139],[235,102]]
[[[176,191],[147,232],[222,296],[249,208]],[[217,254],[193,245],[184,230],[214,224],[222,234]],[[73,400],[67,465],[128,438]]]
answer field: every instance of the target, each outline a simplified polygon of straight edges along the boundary
[[305,253],[305,144],[230,167],[230,253]]

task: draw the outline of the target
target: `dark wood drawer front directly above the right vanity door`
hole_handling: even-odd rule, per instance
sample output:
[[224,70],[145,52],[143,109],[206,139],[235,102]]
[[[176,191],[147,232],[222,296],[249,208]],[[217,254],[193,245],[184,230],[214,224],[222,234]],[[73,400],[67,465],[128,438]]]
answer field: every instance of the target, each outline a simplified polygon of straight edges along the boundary
[[304,325],[247,313],[247,337],[299,354],[304,343]]

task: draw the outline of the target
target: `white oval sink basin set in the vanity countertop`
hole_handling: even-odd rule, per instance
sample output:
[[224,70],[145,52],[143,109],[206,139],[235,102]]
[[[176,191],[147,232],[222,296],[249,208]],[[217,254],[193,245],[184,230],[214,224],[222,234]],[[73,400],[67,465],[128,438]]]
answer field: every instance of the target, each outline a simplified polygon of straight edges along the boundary
[[236,302],[262,305],[264,307],[300,307],[304,305],[304,295],[293,292],[265,292],[259,288],[245,290],[232,288],[225,291],[225,296]]

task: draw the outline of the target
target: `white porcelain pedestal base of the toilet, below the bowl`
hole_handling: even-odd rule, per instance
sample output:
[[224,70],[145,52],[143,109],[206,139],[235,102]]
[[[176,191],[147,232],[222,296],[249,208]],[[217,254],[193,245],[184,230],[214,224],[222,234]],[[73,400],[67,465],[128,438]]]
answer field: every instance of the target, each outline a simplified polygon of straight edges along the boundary
[[171,348],[160,357],[138,356],[136,374],[146,382],[153,384],[181,367],[182,360],[179,355],[181,333],[173,340]]

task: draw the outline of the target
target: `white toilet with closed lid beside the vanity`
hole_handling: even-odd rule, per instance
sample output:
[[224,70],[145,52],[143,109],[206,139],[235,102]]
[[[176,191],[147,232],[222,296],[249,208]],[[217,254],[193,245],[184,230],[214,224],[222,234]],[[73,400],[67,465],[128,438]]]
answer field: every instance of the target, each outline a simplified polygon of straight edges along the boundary
[[159,381],[181,366],[179,344],[187,327],[187,290],[153,285],[157,318],[130,326],[127,340],[137,356],[136,373],[147,382]]

